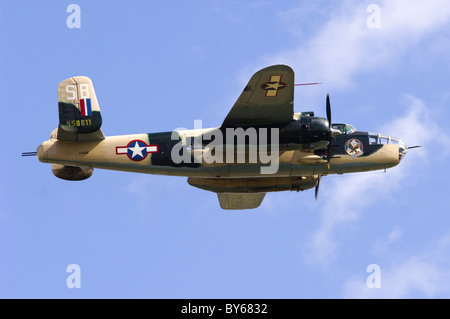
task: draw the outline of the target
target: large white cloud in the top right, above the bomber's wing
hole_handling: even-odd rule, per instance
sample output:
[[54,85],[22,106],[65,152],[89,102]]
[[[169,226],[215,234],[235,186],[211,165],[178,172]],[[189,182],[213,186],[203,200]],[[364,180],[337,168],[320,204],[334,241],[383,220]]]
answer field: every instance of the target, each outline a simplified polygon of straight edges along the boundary
[[[445,30],[450,23],[450,2],[445,0],[385,0],[377,3],[381,28],[367,26],[368,3],[345,1],[340,7],[328,7],[331,12],[313,6],[311,16],[315,15],[319,21],[328,19],[326,23],[319,25],[312,37],[300,41],[298,47],[266,56],[258,61],[257,67],[286,63],[297,72],[297,79],[320,81],[334,90],[348,89],[355,84],[355,75],[380,67],[385,70],[395,67],[405,53],[414,51],[420,41],[429,40],[430,34]],[[295,16],[304,21],[304,11],[293,8],[280,12],[279,16],[289,23],[296,20]],[[312,20],[311,16],[309,20]],[[299,27],[300,37],[304,32]]]

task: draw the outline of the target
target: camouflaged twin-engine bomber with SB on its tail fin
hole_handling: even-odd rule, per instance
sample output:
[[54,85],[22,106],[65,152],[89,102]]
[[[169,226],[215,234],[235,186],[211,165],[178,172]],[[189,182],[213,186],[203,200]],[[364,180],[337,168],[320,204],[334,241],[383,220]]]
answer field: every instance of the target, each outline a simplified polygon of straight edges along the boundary
[[313,112],[294,113],[294,71],[273,65],[256,72],[220,127],[105,136],[89,78],[58,85],[59,126],[37,155],[65,180],[94,168],[186,176],[217,193],[223,209],[258,207],[267,192],[319,189],[321,176],[380,170],[407,152],[398,138],[357,131]]

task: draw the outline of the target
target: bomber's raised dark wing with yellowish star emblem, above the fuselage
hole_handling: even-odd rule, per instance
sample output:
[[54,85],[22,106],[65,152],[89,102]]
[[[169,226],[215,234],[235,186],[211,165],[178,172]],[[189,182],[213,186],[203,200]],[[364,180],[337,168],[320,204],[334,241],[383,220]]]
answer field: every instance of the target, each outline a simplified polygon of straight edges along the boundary
[[294,115],[294,71],[273,65],[256,72],[222,127],[286,123]]

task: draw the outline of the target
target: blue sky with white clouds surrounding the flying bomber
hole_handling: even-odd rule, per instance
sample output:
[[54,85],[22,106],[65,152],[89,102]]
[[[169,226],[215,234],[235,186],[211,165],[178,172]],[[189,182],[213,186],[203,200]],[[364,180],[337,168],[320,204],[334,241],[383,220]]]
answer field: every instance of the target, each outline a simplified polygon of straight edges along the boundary
[[[449,38],[444,0],[2,2],[0,297],[448,298]],[[329,92],[335,122],[423,147],[386,173],[323,178],[317,203],[269,193],[238,212],[186,178],[68,182],[20,157],[56,128],[70,76],[92,79],[117,135],[218,126],[278,63],[322,83],[296,89],[296,112],[325,116]],[[81,288],[66,285],[70,264]]]

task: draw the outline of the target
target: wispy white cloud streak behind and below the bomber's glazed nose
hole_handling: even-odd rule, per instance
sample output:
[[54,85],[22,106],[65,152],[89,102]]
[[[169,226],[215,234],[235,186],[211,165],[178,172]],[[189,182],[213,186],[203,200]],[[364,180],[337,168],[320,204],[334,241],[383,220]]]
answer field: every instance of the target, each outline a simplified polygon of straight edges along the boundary
[[[444,143],[450,143],[432,117],[423,116],[425,104],[414,97],[408,97],[409,105],[405,116],[387,123],[385,127],[397,128],[397,132],[411,140],[427,145],[435,136],[441,136]],[[323,206],[320,212],[319,228],[312,234],[309,248],[305,255],[309,262],[327,267],[333,260],[340,242],[336,233],[349,227],[379,198],[388,198],[400,189],[405,178],[410,178],[423,169],[426,157],[419,151],[407,154],[398,167],[389,169],[387,173],[364,173],[359,175],[344,175],[336,178],[322,179],[320,200]],[[325,187],[322,187],[325,186]],[[343,185],[345,185],[343,187]],[[328,191],[329,190],[329,191]],[[325,191],[326,195],[325,195]],[[371,194],[371,196],[366,196]],[[355,199],[364,198],[364,201]]]

